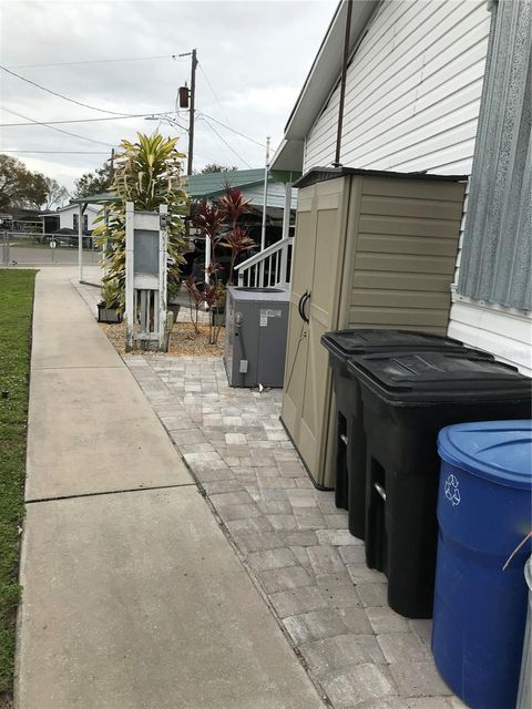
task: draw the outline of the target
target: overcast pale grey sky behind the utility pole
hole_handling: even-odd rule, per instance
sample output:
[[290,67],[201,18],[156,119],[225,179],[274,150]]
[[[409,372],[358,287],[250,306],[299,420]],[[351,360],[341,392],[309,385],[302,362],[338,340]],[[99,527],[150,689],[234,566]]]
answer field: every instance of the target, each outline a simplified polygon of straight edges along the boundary
[[[270,135],[275,151],[336,4],[337,0],[2,1],[0,64],[100,111],[69,103],[0,71],[0,151],[50,151],[9,154],[71,189],[76,177],[103,163],[113,145],[134,138],[136,131],[152,132],[157,122],[141,117],[55,125],[98,142],[42,125],[6,124],[29,119],[101,119],[109,116],[104,111],[173,111],[177,88],[190,80],[191,59],[172,60],[171,55],[196,48],[194,167],[201,169],[209,162],[241,169],[260,167],[264,148],[213,119],[258,143]],[[163,59],[72,63],[152,56]],[[187,125],[187,113],[182,112],[178,120]],[[186,152],[184,131],[164,123],[161,130],[180,134]]]

